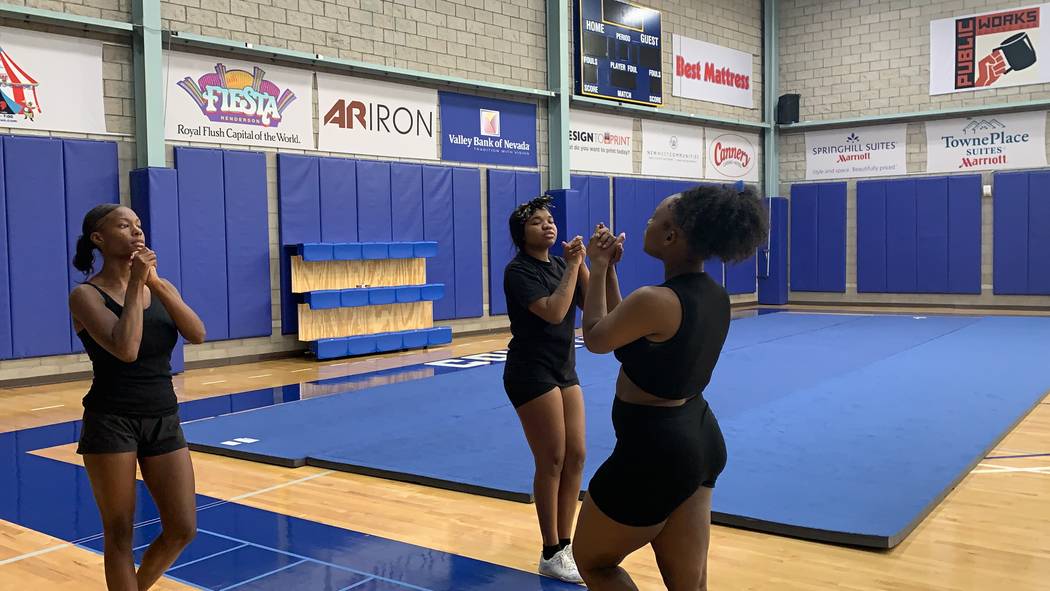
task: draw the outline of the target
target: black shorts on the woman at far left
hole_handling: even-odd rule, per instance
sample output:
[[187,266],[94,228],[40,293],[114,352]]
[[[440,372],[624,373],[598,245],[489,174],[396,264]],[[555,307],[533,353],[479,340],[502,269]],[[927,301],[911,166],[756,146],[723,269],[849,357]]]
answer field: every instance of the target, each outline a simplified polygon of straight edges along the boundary
[[186,447],[178,414],[165,417],[124,417],[84,410],[77,453],[122,453],[139,458],[163,456]]

